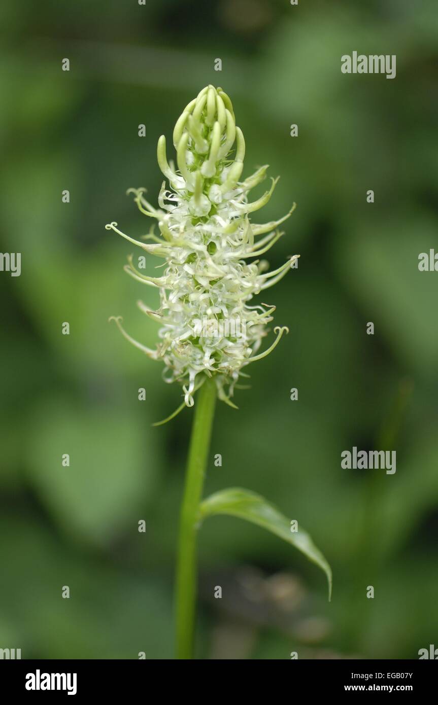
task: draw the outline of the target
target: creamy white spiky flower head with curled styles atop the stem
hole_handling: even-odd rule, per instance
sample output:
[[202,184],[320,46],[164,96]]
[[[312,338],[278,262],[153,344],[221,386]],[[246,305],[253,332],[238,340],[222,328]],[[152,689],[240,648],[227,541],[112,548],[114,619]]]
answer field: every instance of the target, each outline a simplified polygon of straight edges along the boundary
[[[236,154],[229,152],[236,141]],[[169,181],[159,192],[159,208],[145,199],[145,189],[130,189],[142,213],[158,222],[161,237],[151,231],[145,239],[133,240],[117,228],[105,226],[166,264],[159,277],[145,276],[135,269],[132,257],[125,270],[137,281],[159,289],[160,306],[153,311],[140,302],[145,314],[159,322],[159,343],[152,350],[133,340],[113,318],[130,343],[165,365],[164,379],[183,385],[185,405],[193,405],[193,393],[212,376],[221,400],[230,398],[244,368],[268,355],[286,327],[275,328],[272,345],[257,354],[275,307],[264,303],[250,305],[255,294],[273,286],[299,257],[294,255],[279,269],[267,271],[260,259],[284,233],[276,228],[291,215],[293,208],[278,221],[257,225],[249,214],[269,201],[271,188],[254,202],[248,192],[266,176],[267,166],[240,181],[245,156],[245,140],[236,127],[231,100],[221,88],[205,87],[176,121],[174,129],[176,162],[166,158],[166,138],[159,138],[159,167]],[[262,235],[260,239],[259,235]]]

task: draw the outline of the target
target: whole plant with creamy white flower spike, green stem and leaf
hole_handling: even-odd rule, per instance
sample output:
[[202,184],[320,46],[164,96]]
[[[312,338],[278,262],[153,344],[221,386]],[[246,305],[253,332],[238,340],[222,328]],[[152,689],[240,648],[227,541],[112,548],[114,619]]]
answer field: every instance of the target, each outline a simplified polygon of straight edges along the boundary
[[[195,618],[196,534],[202,520],[212,514],[229,514],[262,525],[305,553],[327,574],[331,570],[303,529],[253,492],[227,489],[201,501],[205,465],[216,399],[236,407],[234,391],[248,377],[249,364],[274,350],[286,326],[274,328],[271,345],[259,352],[275,307],[253,302],[283,278],[299,255],[289,257],[278,269],[269,270],[262,256],[284,233],[277,221],[253,223],[252,214],[272,196],[277,179],[264,194],[250,201],[249,193],[267,175],[267,165],[242,180],[245,140],[236,125],[233,105],[221,88],[205,87],[184,109],[174,128],[176,165],[166,156],[166,137],[158,141],[157,158],[166,177],[156,208],[145,198],[145,189],[129,189],[140,212],[156,221],[142,240],[105,226],[163,260],[161,276],[146,276],[128,257],[126,272],[145,286],[159,290],[154,310],[139,302],[140,309],[159,324],[159,343],[148,348],[125,331],[121,317],[111,317],[123,336],[147,357],[164,363],[163,378],[176,381],[183,390],[185,406],[195,404],[188,470],[181,510],[176,581],[177,654],[191,658]],[[195,393],[199,390],[195,403]]]

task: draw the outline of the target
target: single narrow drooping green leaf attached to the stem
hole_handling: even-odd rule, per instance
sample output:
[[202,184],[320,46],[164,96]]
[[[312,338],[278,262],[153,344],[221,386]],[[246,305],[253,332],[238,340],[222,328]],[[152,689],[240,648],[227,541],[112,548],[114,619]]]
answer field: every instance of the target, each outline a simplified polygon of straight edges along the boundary
[[276,534],[284,541],[298,548],[312,563],[316,563],[327,575],[329,601],[331,600],[331,568],[321,551],[315,546],[309,534],[298,527],[291,531],[291,522],[264,497],[248,489],[230,487],[215,492],[200,504],[200,519],[214,514],[228,514],[246,519]]

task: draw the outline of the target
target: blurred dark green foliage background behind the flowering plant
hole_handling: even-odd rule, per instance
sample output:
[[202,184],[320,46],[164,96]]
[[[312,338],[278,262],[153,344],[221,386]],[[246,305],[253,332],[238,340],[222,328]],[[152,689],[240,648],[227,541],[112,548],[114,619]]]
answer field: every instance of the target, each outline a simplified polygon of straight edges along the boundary
[[[157,139],[213,83],[245,134],[244,174],[281,175],[255,220],[298,203],[272,266],[301,257],[268,300],[291,333],[250,370],[240,410],[219,404],[205,491],[248,487],[297,519],[334,597],[290,546],[212,518],[197,658],[418,658],[438,639],[438,274],[418,271],[438,251],[436,3],[6,0],[0,19],[1,251],[22,253],[21,276],[0,275],[0,647],[174,654],[193,412],[151,427],[181,389],[108,323],[157,338],[135,306],[156,294],[123,273],[133,248],[104,224],[147,232],[126,189],[155,201]],[[396,78],[344,75],[353,50],[396,54]],[[352,446],[396,449],[396,474],[341,470]]]

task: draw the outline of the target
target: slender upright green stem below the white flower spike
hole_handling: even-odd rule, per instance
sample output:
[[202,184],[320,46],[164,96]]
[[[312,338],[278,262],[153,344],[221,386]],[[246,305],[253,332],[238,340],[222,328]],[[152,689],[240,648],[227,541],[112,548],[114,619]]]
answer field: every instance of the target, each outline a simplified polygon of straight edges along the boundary
[[216,394],[214,380],[207,378],[195,403],[195,418],[188,450],[176,570],[177,658],[193,658],[197,584],[196,534]]

